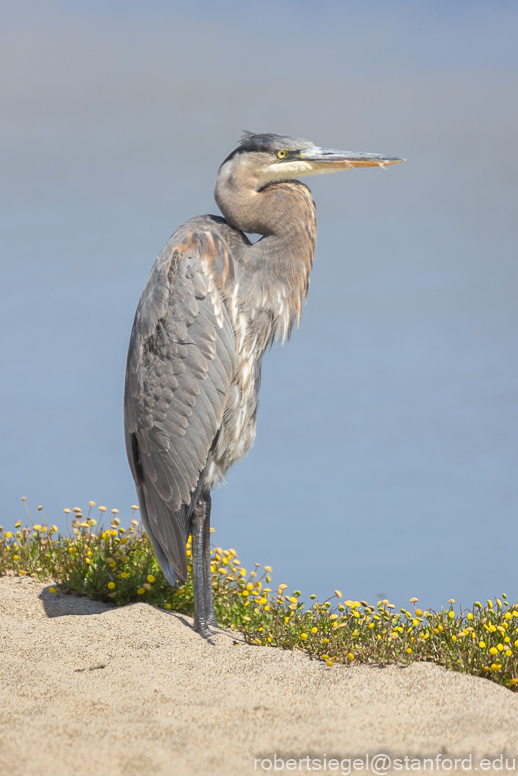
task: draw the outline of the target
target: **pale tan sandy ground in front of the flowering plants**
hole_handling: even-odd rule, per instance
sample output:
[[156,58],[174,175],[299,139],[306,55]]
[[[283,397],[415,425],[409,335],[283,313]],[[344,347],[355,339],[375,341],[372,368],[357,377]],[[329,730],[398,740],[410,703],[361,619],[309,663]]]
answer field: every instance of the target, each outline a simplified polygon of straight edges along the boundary
[[[15,577],[0,579],[0,615],[2,774],[244,776],[313,772],[317,759],[320,773],[360,772],[351,758],[373,773],[379,753],[393,760],[378,773],[446,773],[469,755],[458,772],[506,773],[513,754],[518,772],[518,694],[484,679],[430,664],[327,668],[230,634],[211,646],[189,618]],[[502,770],[481,762],[502,753]],[[439,767],[417,760],[438,755]]]

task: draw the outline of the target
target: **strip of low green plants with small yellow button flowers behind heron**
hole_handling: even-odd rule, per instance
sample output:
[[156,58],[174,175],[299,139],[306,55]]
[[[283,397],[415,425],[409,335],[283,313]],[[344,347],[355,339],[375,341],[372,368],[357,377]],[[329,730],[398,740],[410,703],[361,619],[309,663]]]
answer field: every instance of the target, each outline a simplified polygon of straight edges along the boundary
[[[25,502],[25,499],[22,499]],[[109,528],[102,526],[106,508],[94,519],[89,502],[86,517],[79,507],[65,509],[72,519],[67,536],[43,521],[14,532],[0,528],[0,574],[30,575],[56,584],[61,590],[87,595],[117,606],[145,601],[162,609],[192,614],[192,581],[171,588],[158,566],[151,543],[136,519],[120,525],[112,509]],[[132,507],[134,517],[138,507]],[[28,510],[27,510],[28,512]],[[191,556],[190,541],[187,555]],[[483,676],[518,689],[518,603],[507,596],[471,609],[440,612],[422,610],[411,598],[412,611],[394,611],[389,601],[373,606],[367,601],[342,602],[335,590],[311,608],[291,595],[286,585],[271,584],[271,568],[241,567],[235,550],[214,547],[211,552],[216,613],[221,625],[239,631],[250,644],[299,649],[332,667],[337,663],[411,663],[426,660],[445,668]],[[189,571],[191,568],[189,567]]]

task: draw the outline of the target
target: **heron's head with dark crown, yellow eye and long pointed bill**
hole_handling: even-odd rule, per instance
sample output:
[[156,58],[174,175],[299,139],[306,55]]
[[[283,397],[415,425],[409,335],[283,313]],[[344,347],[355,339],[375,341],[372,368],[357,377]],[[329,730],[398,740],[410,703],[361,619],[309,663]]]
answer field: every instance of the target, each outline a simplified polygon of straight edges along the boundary
[[[387,167],[403,159],[380,154],[320,148],[310,140],[270,133],[246,132],[240,145],[227,156],[219,176],[256,190],[272,181],[325,175],[353,167]],[[218,177],[219,177],[218,176]]]

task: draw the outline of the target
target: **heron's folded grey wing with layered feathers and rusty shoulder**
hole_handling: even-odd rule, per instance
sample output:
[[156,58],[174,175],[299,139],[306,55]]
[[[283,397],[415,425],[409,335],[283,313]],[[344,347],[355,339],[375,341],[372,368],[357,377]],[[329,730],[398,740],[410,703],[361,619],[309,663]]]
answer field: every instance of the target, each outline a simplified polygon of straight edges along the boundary
[[187,578],[192,506],[234,374],[234,331],[218,290],[231,264],[217,232],[179,230],[151,271],[130,340],[128,458],[145,528],[173,582],[173,569]]

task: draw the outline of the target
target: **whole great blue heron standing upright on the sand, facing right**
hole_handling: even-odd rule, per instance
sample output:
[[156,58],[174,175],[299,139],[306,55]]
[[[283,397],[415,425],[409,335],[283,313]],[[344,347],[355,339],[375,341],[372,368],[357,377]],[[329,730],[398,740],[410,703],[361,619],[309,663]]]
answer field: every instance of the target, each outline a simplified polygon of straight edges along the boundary
[[[217,626],[210,491],[255,438],[263,354],[298,322],[316,238],[296,178],[402,161],[247,132],[219,168],[221,216],[198,216],[158,257],[135,315],[125,390],[126,446],[142,522],[165,577],[187,579],[194,627]],[[245,232],[262,235],[251,243]]]

